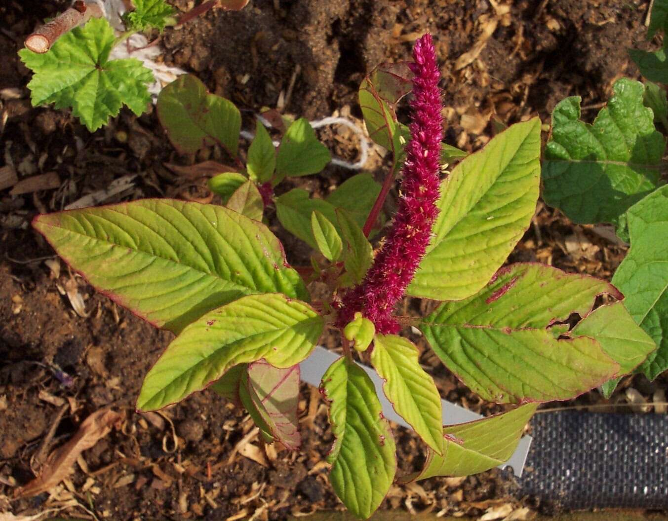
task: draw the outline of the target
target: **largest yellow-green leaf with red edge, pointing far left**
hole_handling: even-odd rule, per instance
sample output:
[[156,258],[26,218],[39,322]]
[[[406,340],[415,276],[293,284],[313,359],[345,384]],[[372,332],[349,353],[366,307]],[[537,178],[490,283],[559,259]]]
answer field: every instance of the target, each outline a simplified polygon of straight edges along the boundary
[[97,289],[174,333],[244,295],[309,298],[269,228],[222,206],[144,199],[39,215],[33,226]]

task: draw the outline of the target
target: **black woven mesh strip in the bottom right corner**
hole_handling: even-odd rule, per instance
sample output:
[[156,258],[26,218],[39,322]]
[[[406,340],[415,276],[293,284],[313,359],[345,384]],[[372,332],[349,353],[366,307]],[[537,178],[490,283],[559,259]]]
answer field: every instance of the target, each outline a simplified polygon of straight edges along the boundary
[[519,480],[561,508],[668,508],[668,416],[538,413]]

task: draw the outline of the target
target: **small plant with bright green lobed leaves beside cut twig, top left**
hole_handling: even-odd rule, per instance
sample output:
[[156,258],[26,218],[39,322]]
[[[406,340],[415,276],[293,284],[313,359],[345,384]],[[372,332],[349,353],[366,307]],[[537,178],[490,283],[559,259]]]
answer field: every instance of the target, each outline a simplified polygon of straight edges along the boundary
[[[99,7],[77,0],[71,9],[26,39],[26,48],[19,56],[34,73],[28,83],[33,106],[72,108],[90,132],[106,125],[122,106],[137,116],[146,111],[151,101],[147,85],[155,81],[152,71],[138,59],[110,59],[110,53],[134,33],[163,31],[192,15],[175,17],[176,11],[165,0],[133,3],[134,10],[123,15],[125,31],[121,35],[116,36]],[[226,0],[223,7],[241,9],[246,3]],[[214,4],[206,2],[204,7],[210,9]],[[193,9],[193,15],[206,9]],[[77,27],[83,21],[86,25]]]

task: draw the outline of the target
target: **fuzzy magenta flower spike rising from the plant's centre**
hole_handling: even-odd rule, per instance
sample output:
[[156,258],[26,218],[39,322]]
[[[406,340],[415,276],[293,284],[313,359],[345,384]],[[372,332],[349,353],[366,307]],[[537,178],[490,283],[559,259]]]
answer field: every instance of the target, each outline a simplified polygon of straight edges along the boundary
[[399,323],[392,317],[415,275],[429,244],[438,215],[439,158],[443,138],[440,73],[432,35],[415,42],[411,71],[411,139],[406,144],[403,182],[397,214],[385,243],[359,286],[341,299],[337,325],[345,326],[361,313],[371,320],[378,333],[398,333]]

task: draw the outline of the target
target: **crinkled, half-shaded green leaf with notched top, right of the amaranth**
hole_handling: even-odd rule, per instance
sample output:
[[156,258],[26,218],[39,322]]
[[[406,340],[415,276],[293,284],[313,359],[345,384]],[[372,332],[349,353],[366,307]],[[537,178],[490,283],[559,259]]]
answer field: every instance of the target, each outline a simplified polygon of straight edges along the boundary
[[644,87],[619,79],[593,125],[580,118],[580,98],[552,113],[545,147],[543,198],[574,222],[617,223],[629,206],[657,187],[665,139],[643,105]]

